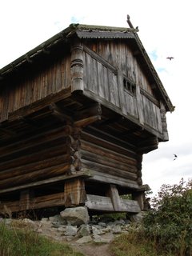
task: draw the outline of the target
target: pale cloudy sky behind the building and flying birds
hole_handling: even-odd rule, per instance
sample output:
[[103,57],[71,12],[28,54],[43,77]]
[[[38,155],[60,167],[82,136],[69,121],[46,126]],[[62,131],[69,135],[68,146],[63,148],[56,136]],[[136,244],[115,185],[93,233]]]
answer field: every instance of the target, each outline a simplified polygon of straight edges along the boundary
[[192,178],[190,0],[2,1],[0,69],[70,23],[127,27],[127,14],[175,106],[166,114],[169,142],[143,156],[142,181],[155,195],[162,184]]

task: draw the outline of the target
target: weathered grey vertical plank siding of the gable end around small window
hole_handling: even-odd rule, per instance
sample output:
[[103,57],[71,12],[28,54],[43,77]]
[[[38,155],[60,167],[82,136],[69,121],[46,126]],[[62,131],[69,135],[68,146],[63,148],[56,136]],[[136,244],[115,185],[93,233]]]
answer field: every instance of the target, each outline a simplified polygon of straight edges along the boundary
[[[129,118],[133,117],[138,123],[141,122],[138,115],[140,112],[143,118],[141,124],[150,127],[156,134],[162,134],[160,104],[130,48],[117,42],[98,42],[98,45],[90,47],[91,49],[84,46],[84,90],[97,95],[104,105],[111,108],[115,106],[120,113],[126,114]],[[121,70],[120,73],[118,69]],[[121,78],[118,78],[119,74]],[[123,76],[139,87],[138,100],[138,96],[133,92],[126,88],[120,89]]]

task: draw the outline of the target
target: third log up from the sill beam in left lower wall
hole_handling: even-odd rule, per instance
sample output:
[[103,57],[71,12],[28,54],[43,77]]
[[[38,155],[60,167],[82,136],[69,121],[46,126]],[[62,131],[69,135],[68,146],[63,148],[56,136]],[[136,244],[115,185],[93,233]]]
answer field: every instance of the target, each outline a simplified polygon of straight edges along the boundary
[[[61,140],[60,140],[61,143]],[[66,154],[66,149],[67,146],[66,145],[56,145],[54,146],[53,143],[53,147],[49,147],[46,148],[45,150],[41,150],[41,152],[35,152],[33,154],[30,155],[24,155],[24,156],[19,156],[18,158],[12,158],[8,161],[5,162],[0,162],[0,171],[1,170],[7,170],[13,167],[17,167],[17,166],[22,166],[25,165],[27,163],[30,162],[36,162],[38,160],[43,160],[43,159],[47,159],[47,158],[52,158],[54,156],[57,156],[58,154]]]

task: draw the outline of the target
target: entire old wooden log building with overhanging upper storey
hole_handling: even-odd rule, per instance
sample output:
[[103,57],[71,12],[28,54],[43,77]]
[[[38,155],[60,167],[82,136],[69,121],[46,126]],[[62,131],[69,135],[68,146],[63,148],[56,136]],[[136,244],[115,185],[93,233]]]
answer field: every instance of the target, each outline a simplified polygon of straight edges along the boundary
[[128,22],[71,24],[2,68],[0,213],[143,209],[142,154],[174,106]]

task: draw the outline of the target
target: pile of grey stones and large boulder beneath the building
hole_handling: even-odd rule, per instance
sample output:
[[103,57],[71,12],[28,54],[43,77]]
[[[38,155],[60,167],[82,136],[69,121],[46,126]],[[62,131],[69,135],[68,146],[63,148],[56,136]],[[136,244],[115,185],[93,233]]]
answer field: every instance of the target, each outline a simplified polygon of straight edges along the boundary
[[97,222],[91,222],[85,207],[66,209],[59,215],[37,221],[32,221],[29,218],[6,218],[6,225],[16,229],[27,227],[27,229],[54,240],[78,244],[86,242],[109,243],[114,237],[128,232],[130,229],[130,221],[124,219],[113,222],[109,219],[100,219]]

